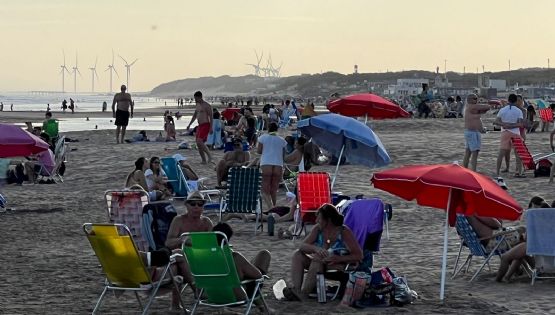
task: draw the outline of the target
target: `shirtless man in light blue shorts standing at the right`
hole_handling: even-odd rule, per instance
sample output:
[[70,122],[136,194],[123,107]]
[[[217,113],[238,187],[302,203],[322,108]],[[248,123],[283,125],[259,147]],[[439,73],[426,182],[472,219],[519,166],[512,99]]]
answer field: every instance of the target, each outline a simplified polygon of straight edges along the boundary
[[489,105],[478,104],[478,96],[469,94],[466,98],[466,108],[464,110],[464,139],[466,149],[464,152],[463,166],[468,168],[470,161],[470,169],[476,171],[478,163],[478,154],[482,147],[482,120],[480,117],[490,109]]

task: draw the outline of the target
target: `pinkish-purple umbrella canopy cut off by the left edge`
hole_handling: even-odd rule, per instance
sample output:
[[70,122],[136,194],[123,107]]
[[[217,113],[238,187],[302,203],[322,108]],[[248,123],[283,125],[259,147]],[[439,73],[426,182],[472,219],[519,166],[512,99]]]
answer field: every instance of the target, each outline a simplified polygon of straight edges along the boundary
[[48,143],[15,125],[0,124],[0,158],[29,156],[48,149]]

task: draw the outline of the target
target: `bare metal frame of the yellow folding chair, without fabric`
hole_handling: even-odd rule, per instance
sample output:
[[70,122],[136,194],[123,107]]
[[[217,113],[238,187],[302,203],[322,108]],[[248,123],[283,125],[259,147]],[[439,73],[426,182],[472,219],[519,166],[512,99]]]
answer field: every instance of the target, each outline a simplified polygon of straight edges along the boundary
[[[118,231],[123,230],[125,232],[125,235],[122,236],[128,236],[129,239],[131,240],[131,242],[133,243],[133,247],[135,248],[135,252],[137,253],[137,257],[140,259],[139,256],[139,251],[137,249],[137,246],[135,245],[135,242],[133,241],[133,237],[131,235],[131,231],[129,230],[129,228],[127,228],[127,226],[125,226],[124,224],[93,224],[93,223],[85,223],[83,224],[83,231],[85,232],[85,234],[87,235],[87,237],[91,236],[91,231],[92,231],[92,227],[93,226],[115,226]],[[93,250],[95,250],[93,248]],[[121,286],[117,286],[114,285],[110,282],[110,280],[108,278],[106,278],[105,280],[105,285],[104,285],[104,290],[102,290],[102,293],[100,294],[100,297],[98,298],[98,301],[96,302],[96,305],[93,309],[92,314],[96,314],[96,312],[100,309],[100,307],[102,306],[102,302],[104,300],[104,297],[106,296],[106,293],[108,292],[108,290],[112,290],[112,291],[131,291],[133,293],[135,293],[135,298],[137,299],[137,302],[139,303],[139,306],[142,310],[142,314],[147,314],[148,313],[148,309],[150,308],[152,302],[154,301],[154,298],[156,297],[156,293],[158,293],[158,290],[160,289],[161,285],[164,283],[164,279],[166,277],[166,274],[170,274],[171,277],[171,282],[174,285],[174,288],[177,290],[177,292],[181,292],[181,290],[179,289],[179,285],[175,282],[174,280],[174,274],[171,270],[171,264],[173,264],[175,262],[175,258],[178,256],[183,256],[180,254],[174,254],[170,257],[170,262],[164,267],[164,272],[162,273],[162,276],[160,277],[160,280],[156,281],[156,282],[152,282],[152,280],[150,280],[150,283],[148,285],[141,285],[139,287],[121,287]],[[150,274],[148,273],[148,271],[146,270],[146,266],[144,266],[144,263],[141,260],[141,264],[143,265],[144,268],[144,272],[146,275],[148,275],[148,278],[150,279]],[[102,266],[102,268],[104,269],[104,266]],[[145,292],[149,294],[148,297],[148,301],[146,303],[145,306],[143,306],[143,303],[139,297],[139,292]],[[180,305],[183,307],[183,309],[185,309],[185,303],[183,303],[183,299],[181,298],[181,295],[179,295],[179,303]]]

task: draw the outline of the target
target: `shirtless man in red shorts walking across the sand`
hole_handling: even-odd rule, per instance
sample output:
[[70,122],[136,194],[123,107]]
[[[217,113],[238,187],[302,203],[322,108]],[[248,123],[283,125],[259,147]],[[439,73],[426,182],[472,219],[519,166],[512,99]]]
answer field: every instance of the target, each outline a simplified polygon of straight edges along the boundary
[[[212,155],[204,143],[206,142],[206,139],[208,139],[208,134],[212,133],[212,106],[202,99],[202,93],[200,91],[195,92],[194,97],[196,103],[195,113],[193,114],[193,118],[191,118],[191,122],[189,122],[189,126],[187,126],[187,130],[191,128],[191,124],[195,120],[198,120],[195,137],[198,153],[202,159],[202,164],[211,163]],[[206,160],[207,157],[208,161]]]

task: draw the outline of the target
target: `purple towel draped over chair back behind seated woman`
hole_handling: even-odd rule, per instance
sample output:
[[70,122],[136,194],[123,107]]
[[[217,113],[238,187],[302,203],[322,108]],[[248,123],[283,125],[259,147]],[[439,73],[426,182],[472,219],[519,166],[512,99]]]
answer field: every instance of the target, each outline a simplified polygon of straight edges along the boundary
[[[353,231],[361,248],[365,248],[369,235],[383,231],[383,207],[383,202],[375,198],[353,201],[345,209],[345,225]],[[375,250],[379,250],[379,241]]]

